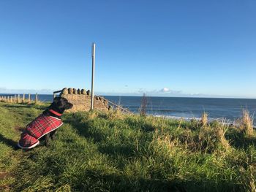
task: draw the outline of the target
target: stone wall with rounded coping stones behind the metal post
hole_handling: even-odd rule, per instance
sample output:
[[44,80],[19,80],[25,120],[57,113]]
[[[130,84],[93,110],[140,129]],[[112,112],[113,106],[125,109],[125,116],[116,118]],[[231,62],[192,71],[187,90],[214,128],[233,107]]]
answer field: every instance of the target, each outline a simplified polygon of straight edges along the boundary
[[[91,93],[85,89],[64,88],[60,93],[61,97],[66,98],[73,104],[72,109],[68,112],[89,111],[91,110]],[[107,112],[109,108],[108,101],[94,96],[94,109]]]

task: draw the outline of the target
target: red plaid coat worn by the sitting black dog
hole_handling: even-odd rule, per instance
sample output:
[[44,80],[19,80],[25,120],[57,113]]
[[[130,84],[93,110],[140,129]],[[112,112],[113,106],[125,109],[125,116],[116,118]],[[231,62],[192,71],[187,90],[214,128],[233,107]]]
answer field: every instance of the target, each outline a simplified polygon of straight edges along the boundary
[[39,117],[26,126],[25,131],[20,135],[18,146],[29,149],[33,145],[35,146],[36,143],[39,143],[38,139],[40,137],[59,128],[62,124],[62,121],[58,118],[39,115]]

